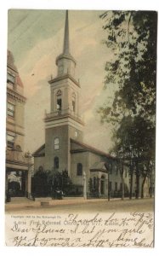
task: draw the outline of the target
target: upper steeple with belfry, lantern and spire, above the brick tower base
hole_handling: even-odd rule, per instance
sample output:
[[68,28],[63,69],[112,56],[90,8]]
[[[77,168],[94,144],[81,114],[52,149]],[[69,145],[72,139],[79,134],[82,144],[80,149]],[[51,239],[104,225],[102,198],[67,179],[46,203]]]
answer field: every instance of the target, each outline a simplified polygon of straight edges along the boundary
[[65,14],[65,32],[63,53],[56,58],[57,76],[48,81],[51,89],[51,113],[56,115],[71,115],[79,117],[80,84],[75,79],[76,61],[70,53],[68,11]]

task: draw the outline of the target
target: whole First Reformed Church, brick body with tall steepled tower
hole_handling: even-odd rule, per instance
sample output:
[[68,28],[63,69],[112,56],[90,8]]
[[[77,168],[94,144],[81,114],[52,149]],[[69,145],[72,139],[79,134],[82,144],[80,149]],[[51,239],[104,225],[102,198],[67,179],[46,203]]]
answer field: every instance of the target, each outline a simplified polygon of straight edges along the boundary
[[[79,96],[81,85],[75,78],[77,61],[71,55],[69,44],[68,11],[65,15],[63,52],[56,58],[57,76],[50,84],[50,113],[46,113],[45,144],[33,154],[34,170],[66,170],[77,194],[83,191],[86,179],[87,195],[96,191],[99,197],[110,191],[121,191],[122,183],[116,159],[83,142],[83,122],[80,117]],[[111,166],[111,168],[109,168]],[[108,169],[111,170],[108,175]],[[128,166],[124,183],[129,187]]]

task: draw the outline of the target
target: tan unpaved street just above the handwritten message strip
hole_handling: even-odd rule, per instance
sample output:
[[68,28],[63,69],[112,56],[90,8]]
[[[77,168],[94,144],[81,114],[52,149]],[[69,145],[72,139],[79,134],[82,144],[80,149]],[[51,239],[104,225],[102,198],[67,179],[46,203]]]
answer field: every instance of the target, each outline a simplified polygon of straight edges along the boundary
[[139,199],[139,200],[111,200],[107,201],[79,201],[76,202],[73,199],[73,204],[68,203],[64,204],[65,200],[54,201],[54,205],[42,206],[42,207],[19,207],[7,209],[6,213],[20,213],[20,214],[45,214],[45,213],[70,213],[70,212],[153,212],[154,211],[154,199]]

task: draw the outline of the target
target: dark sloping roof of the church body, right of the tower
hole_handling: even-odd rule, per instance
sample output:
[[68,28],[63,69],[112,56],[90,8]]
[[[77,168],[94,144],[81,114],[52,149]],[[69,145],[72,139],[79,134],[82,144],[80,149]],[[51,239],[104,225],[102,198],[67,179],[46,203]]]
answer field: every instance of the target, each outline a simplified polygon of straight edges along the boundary
[[[85,143],[80,143],[74,139],[71,139],[71,143],[76,143],[77,145],[81,146],[82,148],[84,148],[85,150],[84,151],[89,151],[89,152],[92,152],[94,154],[99,154],[101,156],[105,156],[107,158],[111,158],[111,159],[116,159],[114,156],[111,156],[111,154],[106,154],[105,152],[97,149],[97,148],[94,148],[92,146],[89,146],[88,144],[85,144]],[[82,152],[83,150],[82,149],[71,149],[71,153],[77,153],[77,152]]]

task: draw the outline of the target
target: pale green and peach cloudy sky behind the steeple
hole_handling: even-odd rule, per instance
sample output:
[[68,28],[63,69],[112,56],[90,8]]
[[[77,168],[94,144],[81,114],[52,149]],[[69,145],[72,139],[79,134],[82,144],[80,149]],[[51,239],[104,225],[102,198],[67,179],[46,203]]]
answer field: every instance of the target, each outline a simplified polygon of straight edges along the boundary
[[[111,127],[102,125],[97,110],[110,101],[104,90],[105,62],[112,54],[102,43],[104,11],[70,10],[70,48],[77,61],[81,84],[80,110],[84,120],[84,143],[109,152]],[[44,113],[50,111],[48,80],[57,74],[55,59],[62,53],[65,10],[10,9],[8,49],[24,84],[26,101],[25,150],[33,153],[44,143]]]

